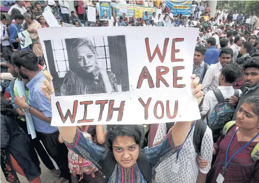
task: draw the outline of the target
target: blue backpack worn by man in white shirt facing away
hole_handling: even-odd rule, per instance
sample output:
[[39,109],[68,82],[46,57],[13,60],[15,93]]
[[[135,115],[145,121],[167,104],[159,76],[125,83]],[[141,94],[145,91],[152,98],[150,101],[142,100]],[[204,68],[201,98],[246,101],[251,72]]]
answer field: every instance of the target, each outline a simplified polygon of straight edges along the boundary
[[[239,91],[236,89],[234,90],[234,95],[238,97]],[[216,140],[220,136],[220,131],[223,129],[225,124],[232,120],[236,108],[229,104],[229,99],[224,99],[219,89],[214,89],[212,91],[216,96],[216,100],[218,103],[210,116],[210,120],[207,121],[208,126],[212,130],[213,141],[216,142]]]

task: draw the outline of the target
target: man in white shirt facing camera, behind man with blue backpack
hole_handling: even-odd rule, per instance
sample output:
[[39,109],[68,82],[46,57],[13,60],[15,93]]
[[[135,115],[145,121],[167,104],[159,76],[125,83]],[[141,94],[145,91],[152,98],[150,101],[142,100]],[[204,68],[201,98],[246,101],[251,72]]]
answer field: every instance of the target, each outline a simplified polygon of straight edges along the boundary
[[[202,81],[202,91],[204,94],[207,91],[216,89],[219,86],[218,76],[222,68],[228,65],[232,61],[233,51],[231,48],[223,48],[219,53],[219,62],[210,67]],[[206,58],[206,55],[205,55]]]

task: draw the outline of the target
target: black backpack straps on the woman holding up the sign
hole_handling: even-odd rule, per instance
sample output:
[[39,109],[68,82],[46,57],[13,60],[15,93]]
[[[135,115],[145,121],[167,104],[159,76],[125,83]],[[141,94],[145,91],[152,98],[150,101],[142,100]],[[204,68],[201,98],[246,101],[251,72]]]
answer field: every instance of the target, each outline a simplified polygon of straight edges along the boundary
[[[105,183],[108,182],[109,178],[111,177],[114,168],[116,166],[116,159],[114,158],[113,154],[110,152],[104,160],[102,164],[102,174]],[[152,183],[152,168],[149,165],[147,160],[146,154],[144,151],[139,150],[138,158],[137,158],[137,166],[140,169],[144,179],[147,183]]]

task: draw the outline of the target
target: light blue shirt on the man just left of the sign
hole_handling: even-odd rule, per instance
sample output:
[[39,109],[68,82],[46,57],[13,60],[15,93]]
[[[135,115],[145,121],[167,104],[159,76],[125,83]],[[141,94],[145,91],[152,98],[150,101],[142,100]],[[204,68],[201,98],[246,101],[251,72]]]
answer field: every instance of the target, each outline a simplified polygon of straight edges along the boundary
[[[52,117],[51,105],[48,99],[44,96],[42,91],[43,80],[46,77],[43,71],[40,71],[35,77],[26,85],[29,88],[30,106],[43,112],[46,117]],[[50,123],[45,122],[38,117],[32,115],[35,130],[42,133],[54,133],[58,130],[56,126],[50,126]]]

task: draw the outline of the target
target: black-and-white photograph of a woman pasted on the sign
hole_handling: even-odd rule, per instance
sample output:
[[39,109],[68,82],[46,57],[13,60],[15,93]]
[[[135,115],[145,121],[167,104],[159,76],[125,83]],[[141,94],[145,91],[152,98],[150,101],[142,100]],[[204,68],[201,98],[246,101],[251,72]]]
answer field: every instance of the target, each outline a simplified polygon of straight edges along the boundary
[[55,96],[129,91],[125,36],[44,41]]

